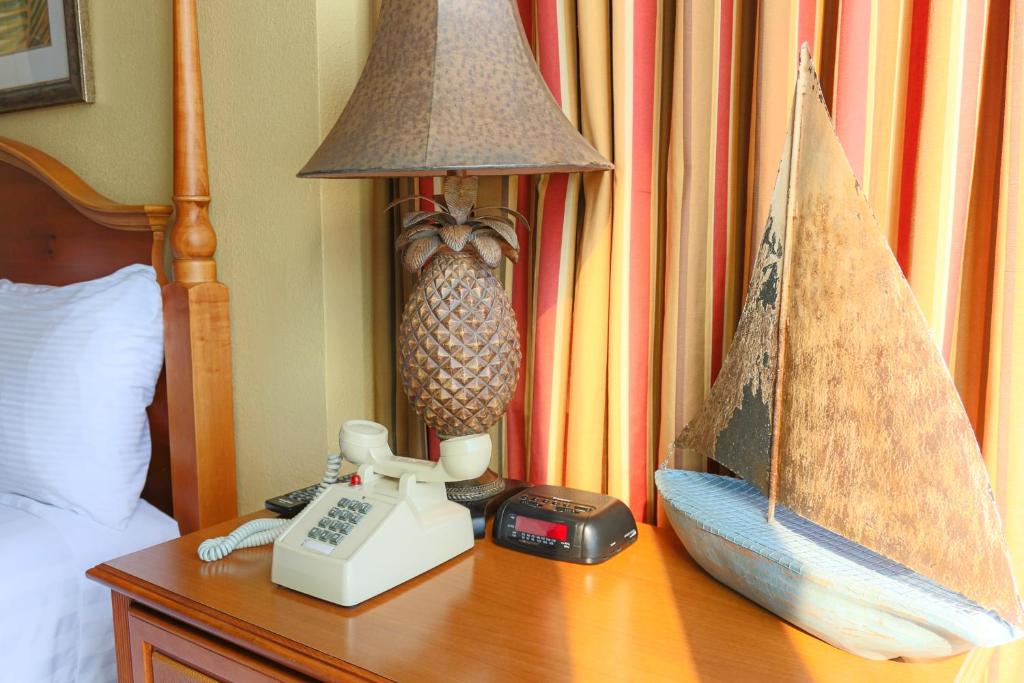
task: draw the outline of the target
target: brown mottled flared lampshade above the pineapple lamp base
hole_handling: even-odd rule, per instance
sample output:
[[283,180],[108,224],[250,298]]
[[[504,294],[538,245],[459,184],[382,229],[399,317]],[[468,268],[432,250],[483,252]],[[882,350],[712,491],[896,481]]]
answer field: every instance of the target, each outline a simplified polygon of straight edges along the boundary
[[600,171],[548,90],[514,0],[384,0],[345,111],[300,177]]

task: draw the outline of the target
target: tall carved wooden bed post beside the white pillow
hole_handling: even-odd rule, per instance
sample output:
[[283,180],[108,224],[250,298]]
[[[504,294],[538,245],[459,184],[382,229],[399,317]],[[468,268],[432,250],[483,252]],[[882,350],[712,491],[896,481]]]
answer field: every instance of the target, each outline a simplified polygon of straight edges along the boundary
[[181,532],[237,514],[227,288],[210,224],[196,0],[174,0],[173,280],[164,287],[171,477]]

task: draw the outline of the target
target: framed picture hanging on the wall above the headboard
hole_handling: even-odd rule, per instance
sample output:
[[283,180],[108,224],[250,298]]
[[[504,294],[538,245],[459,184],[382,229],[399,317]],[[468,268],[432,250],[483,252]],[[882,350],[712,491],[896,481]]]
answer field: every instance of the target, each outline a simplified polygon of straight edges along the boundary
[[92,101],[85,0],[0,0],[0,113]]

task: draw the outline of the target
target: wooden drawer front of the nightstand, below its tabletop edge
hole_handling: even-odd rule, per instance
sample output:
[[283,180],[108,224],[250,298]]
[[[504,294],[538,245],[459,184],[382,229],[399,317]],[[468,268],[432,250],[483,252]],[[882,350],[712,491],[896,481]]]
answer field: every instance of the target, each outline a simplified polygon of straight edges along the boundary
[[311,680],[139,605],[128,609],[128,632],[135,681]]

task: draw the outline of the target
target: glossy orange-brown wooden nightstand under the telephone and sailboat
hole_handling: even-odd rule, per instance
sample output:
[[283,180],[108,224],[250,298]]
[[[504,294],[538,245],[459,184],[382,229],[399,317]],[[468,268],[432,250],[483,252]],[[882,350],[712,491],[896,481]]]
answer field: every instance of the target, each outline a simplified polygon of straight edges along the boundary
[[[604,564],[496,546],[356,607],[270,583],[270,547],[205,564],[237,519],[89,571],[113,589],[121,681],[947,681],[957,656],[869,661],[721,586],[669,528]],[[970,663],[969,663],[970,664]]]

